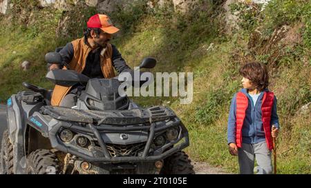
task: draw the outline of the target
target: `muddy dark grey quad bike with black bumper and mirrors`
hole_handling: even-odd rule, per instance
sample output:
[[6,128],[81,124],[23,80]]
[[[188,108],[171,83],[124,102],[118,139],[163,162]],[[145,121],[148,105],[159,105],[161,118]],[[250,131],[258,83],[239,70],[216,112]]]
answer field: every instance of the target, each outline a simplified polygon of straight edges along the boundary
[[[61,63],[57,52],[48,63]],[[147,58],[140,68],[152,68]],[[50,70],[57,85],[84,85],[74,107],[50,105],[53,90],[30,83],[30,91],[7,101],[0,174],[194,174],[182,149],[185,125],[168,107],[146,109],[120,96],[120,81],[89,79],[74,70]]]

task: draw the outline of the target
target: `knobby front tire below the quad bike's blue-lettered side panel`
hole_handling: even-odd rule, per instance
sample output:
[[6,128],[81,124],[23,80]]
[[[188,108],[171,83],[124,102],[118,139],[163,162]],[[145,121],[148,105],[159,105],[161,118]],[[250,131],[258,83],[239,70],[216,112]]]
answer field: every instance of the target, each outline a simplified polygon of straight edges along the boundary
[[59,174],[57,156],[48,149],[37,149],[27,158],[27,174]]

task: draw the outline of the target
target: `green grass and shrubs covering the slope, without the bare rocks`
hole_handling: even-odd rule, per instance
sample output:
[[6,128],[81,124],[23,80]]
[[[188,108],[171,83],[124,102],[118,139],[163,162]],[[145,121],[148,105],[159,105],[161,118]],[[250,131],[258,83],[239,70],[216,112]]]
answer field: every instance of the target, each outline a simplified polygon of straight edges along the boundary
[[[191,158],[237,173],[237,158],[227,152],[229,104],[241,88],[238,67],[247,61],[262,61],[270,69],[269,88],[278,98],[281,124],[277,143],[278,171],[280,174],[310,174],[310,112],[303,114],[299,110],[311,101],[311,31],[310,19],[307,19],[310,3],[305,2],[277,0],[263,12],[246,12],[242,18],[249,19],[245,23],[250,25],[244,25],[233,34],[221,32],[224,29],[221,10],[213,6],[207,12],[191,12],[187,16],[173,12],[171,8],[147,10],[142,4],[128,12],[113,13],[113,21],[122,28],[113,43],[131,67],[139,65],[145,56],[153,56],[158,60],[153,72],[194,72],[194,101],[190,105],[181,105],[178,97],[131,98],[142,106],[171,107],[189,129],[191,145],[186,151]],[[38,17],[41,14],[41,21],[21,28],[15,28],[1,17],[1,27],[6,25],[3,27],[5,37],[0,38],[2,103],[11,94],[23,90],[23,81],[47,88],[53,86],[44,79],[44,54],[82,34],[78,31],[93,10],[82,11],[84,19],[73,17],[79,24],[71,24],[70,34],[60,38],[55,36],[58,20],[72,12],[64,14],[42,9],[35,14]],[[45,14],[51,14],[53,19],[49,17],[47,21]],[[261,27],[262,37],[269,39],[273,31],[284,24],[298,28],[294,33],[298,34],[299,40],[271,48],[279,54],[275,56],[269,51],[258,54],[258,49],[265,43],[256,43],[255,50],[248,48],[255,28]],[[32,63],[27,72],[19,67],[23,60]]]

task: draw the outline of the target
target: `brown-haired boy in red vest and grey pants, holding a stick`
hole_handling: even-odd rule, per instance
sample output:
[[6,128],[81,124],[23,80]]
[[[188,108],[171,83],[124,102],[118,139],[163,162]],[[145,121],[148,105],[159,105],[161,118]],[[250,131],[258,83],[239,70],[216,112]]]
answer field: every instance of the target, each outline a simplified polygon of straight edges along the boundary
[[238,156],[240,174],[254,174],[255,158],[259,171],[272,174],[272,137],[279,134],[279,117],[276,97],[267,90],[267,69],[254,62],[243,65],[239,72],[243,76],[243,89],[234,95],[230,106],[229,153]]

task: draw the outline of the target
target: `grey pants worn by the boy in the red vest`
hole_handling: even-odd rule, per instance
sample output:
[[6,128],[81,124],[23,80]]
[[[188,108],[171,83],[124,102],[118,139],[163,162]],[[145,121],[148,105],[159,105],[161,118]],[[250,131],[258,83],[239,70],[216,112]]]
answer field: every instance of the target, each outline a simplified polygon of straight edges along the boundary
[[242,147],[238,148],[238,164],[240,165],[240,174],[254,174],[254,163],[257,174],[272,174],[271,151],[267,149],[265,141],[256,144],[242,143]]

